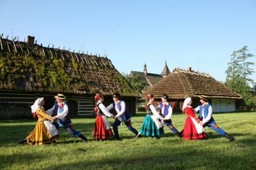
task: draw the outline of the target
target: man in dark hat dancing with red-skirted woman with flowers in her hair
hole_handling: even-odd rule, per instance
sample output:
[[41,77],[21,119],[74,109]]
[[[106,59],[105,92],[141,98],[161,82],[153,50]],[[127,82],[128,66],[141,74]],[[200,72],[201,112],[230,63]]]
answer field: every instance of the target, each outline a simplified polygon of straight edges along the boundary
[[[126,109],[125,102],[120,100],[121,95],[119,93],[114,93],[112,97],[114,102],[107,107],[107,110],[109,111],[111,109],[114,109],[113,115],[115,116],[114,119],[116,120],[113,123],[113,130],[115,134],[115,140],[120,140],[117,127],[121,124],[122,121],[124,121],[126,127],[137,136],[138,131],[132,127],[132,123],[130,121],[130,112],[128,112],[128,110]],[[139,135],[139,137],[141,137],[141,135]]]

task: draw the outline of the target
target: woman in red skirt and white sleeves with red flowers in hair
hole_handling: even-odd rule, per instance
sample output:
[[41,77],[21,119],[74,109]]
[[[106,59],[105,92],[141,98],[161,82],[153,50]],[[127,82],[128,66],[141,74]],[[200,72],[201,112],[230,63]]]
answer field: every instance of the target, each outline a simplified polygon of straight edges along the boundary
[[108,117],[114,117],[113,114],[109,113],[107,111],[106,107],[103,105],[103,95],[96,94],[94,96],[95,99],[95,107],[94,111],[97,114],[95,125],[93,129],[94,137],[96,138],[96,141],[99,141],[100,139],[106,139],[108,137],[114,136],[111,130],[111,126],[109,124],[109,121],[107,119]]

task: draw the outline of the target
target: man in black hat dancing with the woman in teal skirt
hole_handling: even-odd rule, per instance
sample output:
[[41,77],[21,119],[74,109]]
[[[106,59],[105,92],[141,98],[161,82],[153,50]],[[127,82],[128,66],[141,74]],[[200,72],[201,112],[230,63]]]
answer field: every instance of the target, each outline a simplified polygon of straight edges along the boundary
[[163,116],[162,121],[164,122],[164,125],[168,126],[171,131],[177,135],[178,137],[180,136],[180,133],[178,130],[173,126],[173,123],[171,121],[171,116],[173,114],[173,109],[171,107],[171,104],[168,102],[169,96],[167,94],[162,95],[162,102],[159,103],[159,105],[156,107],[156,110],[160,109],[161,110],[161,115]]

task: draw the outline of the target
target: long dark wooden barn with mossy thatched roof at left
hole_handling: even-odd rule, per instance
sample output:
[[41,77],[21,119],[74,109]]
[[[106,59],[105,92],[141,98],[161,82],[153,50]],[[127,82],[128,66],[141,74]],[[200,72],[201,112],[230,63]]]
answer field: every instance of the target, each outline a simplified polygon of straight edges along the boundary
[[[16,38],[15,38],[16,39]],[[92,116],[95,93],[104,95],[105,105],[119,92],[128,110],[135,114],[139,94],[126,82],[107,56],[93,56],[34,43],[5,39],[0,35],[0,105],[29,106],[45,98],[45,109],[55,104],[57,93],[66,95],[69,114]],[[16,108],[16,109],[15,109]],[[2,110],[0,109],[0,112]]]

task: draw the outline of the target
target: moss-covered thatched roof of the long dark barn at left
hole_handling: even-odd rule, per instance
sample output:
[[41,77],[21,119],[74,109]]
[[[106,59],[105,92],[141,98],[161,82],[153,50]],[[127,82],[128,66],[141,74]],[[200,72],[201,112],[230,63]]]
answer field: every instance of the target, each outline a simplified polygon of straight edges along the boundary
[[0,40],[0,89],[139,96],[105,56]]

